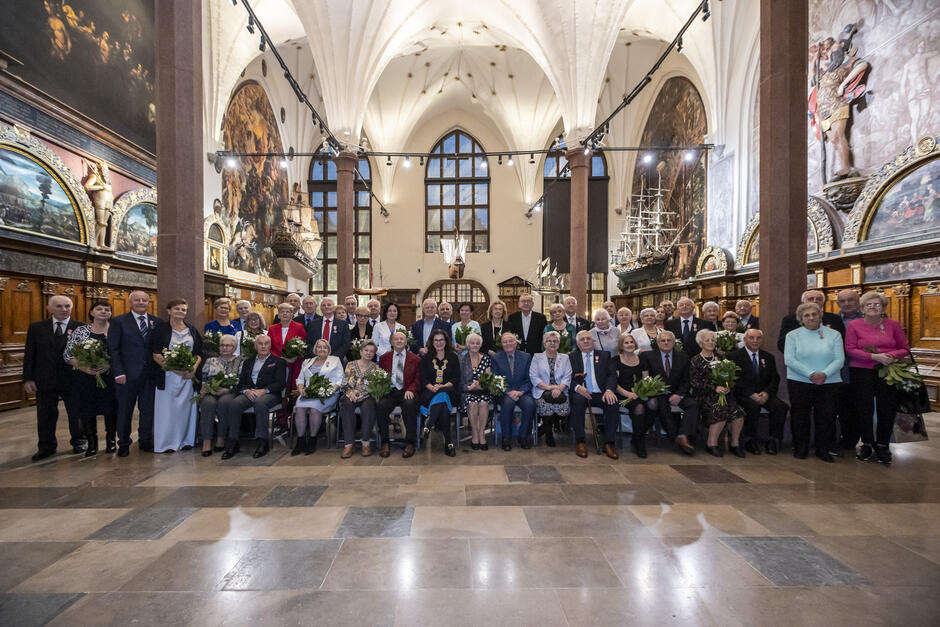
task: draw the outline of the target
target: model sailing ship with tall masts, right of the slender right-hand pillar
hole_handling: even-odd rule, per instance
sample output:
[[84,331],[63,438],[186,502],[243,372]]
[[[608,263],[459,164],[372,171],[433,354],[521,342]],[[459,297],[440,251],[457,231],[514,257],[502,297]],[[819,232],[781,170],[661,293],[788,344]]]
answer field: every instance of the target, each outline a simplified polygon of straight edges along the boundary
[[663,195],[670,191],[662,188],[664,167],[663,162],[656,166],[656,187],[646,187],[646,178],[641,179],[640,193],[626,210],[620,241],[610,253],[610,270],[622,285],[657,278],[679,242],[681,230],[667,226],[676,213],[664,208]]

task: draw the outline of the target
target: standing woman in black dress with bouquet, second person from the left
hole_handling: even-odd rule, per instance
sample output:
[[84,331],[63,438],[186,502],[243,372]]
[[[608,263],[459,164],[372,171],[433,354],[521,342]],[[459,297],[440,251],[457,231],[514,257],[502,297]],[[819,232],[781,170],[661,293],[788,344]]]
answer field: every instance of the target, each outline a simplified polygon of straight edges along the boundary
[[[91,324],[78,327],[69,336],[65,346],[63,358],[80,372],[73,377],[73,394],[76,406],[79,409],[79,418],[82,421],[82,430],[88,439],[88,448],[85,457],[93,457],[98,453],[98,416],[104,416],[105,441],[107,452],[117,450],[115,445],[115,432],[117,431],[117,401],[114,396],[114,377],[108,368],[91,368],[84,359],[79,359],[75,353],[82,352],[79,345],[88,340],[100,342],[98,349],[91,352],[107,357],[108,353],[108,327],[111,321],[111,304],[106,300],[96,300],[88,310],[88,319]],[[103,360],[102,360],[103,361]],[[110,361],[110,360],[109,360]],[[102,386],[100,383],[103,383]]]

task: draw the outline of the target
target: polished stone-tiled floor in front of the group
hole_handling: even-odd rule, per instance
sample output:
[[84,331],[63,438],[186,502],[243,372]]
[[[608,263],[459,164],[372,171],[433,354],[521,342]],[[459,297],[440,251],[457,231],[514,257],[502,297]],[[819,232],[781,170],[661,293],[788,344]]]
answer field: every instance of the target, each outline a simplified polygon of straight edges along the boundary
[[4,625],[940,621],[936,414],[890,468],[439,440],[32,464],[34,416],[0,414]]

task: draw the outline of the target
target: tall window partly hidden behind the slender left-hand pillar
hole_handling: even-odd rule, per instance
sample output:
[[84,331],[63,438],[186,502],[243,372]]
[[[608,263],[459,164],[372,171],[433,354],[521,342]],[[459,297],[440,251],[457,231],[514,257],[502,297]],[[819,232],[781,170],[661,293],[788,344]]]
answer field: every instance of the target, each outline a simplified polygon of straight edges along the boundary
[[[366,181],[372,169],[368,159],[359,160],[359,172]],[[336,164],[332,159],[314,157],[310,162],[308,181],[310,206],[320,229],[323,246],[318,259],[320,273],[311,280],[311,293],[320,297],[343,298],[336,293]],[[369,287],[369,255],[372,252],[372,199],[365,183],[356,177],[353,183],[353,250],[354,280],[356,287]]]

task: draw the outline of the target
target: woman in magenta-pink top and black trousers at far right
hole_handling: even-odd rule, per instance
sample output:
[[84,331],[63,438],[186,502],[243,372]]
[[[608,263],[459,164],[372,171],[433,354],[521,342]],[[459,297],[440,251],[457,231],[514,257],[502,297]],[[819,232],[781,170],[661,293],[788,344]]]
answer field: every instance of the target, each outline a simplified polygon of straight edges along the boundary
[[[898,407],[885,380],[878,376],[878,366],[907,357],[911,347],[904,329],[897,320],[885,316],[888,302],[877,292],[868,292],[859,299],[862,317],[849,322],[845,329],[845,352],[849,358],[849,382],[858,407],[862,446],[856,457],[875,458],[882,464],[891,463],[888,442],[894,430]],[[874,428],[874,412],[878,409],[878,428]]]

